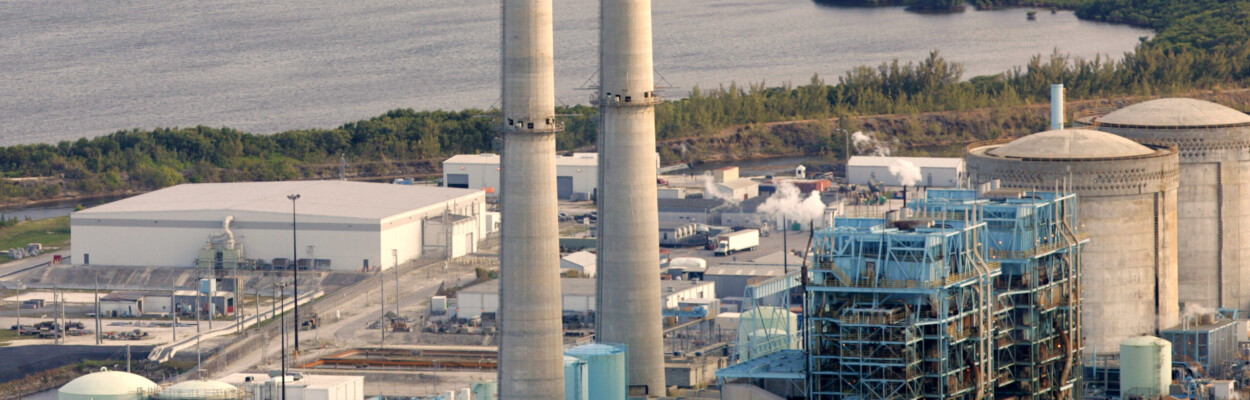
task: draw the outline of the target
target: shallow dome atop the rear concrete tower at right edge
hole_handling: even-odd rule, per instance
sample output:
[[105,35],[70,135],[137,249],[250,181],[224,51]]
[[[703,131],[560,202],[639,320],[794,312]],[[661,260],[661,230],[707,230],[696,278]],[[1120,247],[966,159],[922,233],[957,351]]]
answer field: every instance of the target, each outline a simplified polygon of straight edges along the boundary
[[1126,106],[1095,121],[1120,126],[1198,128],[1250,125],[1250,115],[1196,99],[1159,99]]

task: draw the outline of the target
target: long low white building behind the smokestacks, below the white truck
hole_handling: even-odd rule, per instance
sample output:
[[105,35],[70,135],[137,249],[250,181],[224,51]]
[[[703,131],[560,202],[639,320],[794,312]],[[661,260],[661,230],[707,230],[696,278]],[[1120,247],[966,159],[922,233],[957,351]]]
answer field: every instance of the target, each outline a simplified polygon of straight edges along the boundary
[[[716,284],[709,281],[661,280],[664,308],[676,308],[688,299],[712,299]],[[595,310],[595,280],[586,278],[560,279],[560,298],[565,312]],[[482,312],[499,311],[499,280],[491,280],[456,291],[456,316],[472,319]]]

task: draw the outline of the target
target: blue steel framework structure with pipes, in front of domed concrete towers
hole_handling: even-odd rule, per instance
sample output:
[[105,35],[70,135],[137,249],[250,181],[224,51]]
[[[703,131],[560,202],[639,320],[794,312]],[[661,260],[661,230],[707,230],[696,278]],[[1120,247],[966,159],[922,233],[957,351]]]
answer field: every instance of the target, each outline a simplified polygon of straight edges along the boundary
[[902,215],[816,232],[810,398],[1070,398],[1075,195],[929,190]]

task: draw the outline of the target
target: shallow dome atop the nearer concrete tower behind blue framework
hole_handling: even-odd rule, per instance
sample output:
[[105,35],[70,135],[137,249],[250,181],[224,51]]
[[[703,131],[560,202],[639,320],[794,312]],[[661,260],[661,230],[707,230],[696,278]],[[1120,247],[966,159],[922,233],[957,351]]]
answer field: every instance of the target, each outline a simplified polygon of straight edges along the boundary
[[1024,136],[988,152],[1015,159],[1114,159],[1151,155],[1155,150],[1104,131],[1062,129]]

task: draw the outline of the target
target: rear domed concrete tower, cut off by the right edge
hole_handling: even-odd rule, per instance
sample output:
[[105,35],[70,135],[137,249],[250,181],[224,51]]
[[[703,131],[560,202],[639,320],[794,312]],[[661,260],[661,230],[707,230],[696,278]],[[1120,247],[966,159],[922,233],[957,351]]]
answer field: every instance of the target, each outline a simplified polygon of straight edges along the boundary
[[1210,101],[1160,99],[1081,122],[1176,148],[1180,301],[1250,312],[1250,115]]

